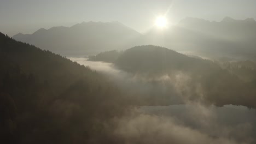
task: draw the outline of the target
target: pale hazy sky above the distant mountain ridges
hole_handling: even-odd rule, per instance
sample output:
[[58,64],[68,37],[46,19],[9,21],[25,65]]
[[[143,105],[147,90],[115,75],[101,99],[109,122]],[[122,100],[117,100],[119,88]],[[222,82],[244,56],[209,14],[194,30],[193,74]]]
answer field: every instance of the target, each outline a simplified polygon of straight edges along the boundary
[[256,18],[255,0],[0,0],[0,31],[13,36],[83,21],[119,21],[143,32],[168,8],[173,23],[187,16],[214,21],[225,16]]

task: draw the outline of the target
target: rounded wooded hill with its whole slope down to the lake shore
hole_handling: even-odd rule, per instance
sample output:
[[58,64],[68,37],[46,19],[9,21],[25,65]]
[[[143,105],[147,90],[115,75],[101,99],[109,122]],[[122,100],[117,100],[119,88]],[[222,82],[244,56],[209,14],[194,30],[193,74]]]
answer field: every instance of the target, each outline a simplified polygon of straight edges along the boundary
[[[104,53],[96,56],[97,59],[104,57]],[[253,69],[249,72],[242,68],[221,67],[217,62],[188,57],[154,45],[132,47],[119,53],[113,63],[135,77],[154,79],[160,81],[159,85],[168,83],[166,87],[178,89],[180,97],[185,99],[203,100],[219,106],[234,104],[256,107],[256,75]],[[245,77],[248,73],[251,75]]]

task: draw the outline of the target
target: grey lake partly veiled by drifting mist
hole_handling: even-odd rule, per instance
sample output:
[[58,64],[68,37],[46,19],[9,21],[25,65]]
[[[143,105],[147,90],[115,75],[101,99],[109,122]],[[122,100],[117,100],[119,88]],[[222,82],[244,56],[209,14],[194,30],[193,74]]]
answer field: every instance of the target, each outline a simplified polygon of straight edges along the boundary
[[216,107],[190,103],[157,107],[143,106],[139,110],[153,118],[165,119],[172,125],[188,128],[190,132],[196,131],[203,134],[212,142],[225,140],[233,143],[253,143],[255,141],[253,138],[255,110],[248,110],[243,106]]

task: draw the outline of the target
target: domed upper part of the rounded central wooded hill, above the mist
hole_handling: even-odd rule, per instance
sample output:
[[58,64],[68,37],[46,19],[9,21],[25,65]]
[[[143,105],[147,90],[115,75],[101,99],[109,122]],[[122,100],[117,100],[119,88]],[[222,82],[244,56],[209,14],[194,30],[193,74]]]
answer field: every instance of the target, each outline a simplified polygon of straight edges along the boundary
[[167,73],[172,70],[189,70],[191,65],[204,62],[165,47],[145,45],[124,51],[115,64],[132,72]]

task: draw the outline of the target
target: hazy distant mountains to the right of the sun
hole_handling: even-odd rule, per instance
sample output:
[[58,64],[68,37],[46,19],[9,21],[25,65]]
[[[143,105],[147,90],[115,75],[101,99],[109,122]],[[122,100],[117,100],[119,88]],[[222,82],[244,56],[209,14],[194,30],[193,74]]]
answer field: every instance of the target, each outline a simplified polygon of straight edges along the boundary
[[253,19],[206,21],[188,17],[159,32],[152,29],[143,44],[168,47],[183,53],[216,58],[253,59],[256,56],[256,22]]

